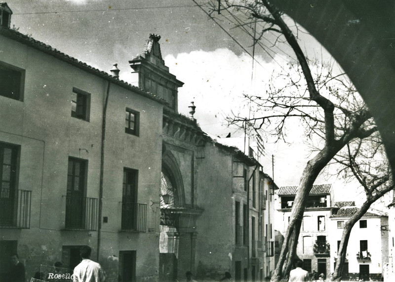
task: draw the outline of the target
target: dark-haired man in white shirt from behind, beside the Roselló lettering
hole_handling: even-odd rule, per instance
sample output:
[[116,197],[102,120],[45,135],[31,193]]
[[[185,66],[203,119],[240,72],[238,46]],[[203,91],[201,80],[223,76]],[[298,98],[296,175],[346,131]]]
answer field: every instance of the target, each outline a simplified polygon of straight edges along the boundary
[[89,259],[91,252],[89,246],[82,246],[79,250],[82,261],[74,268],[74,282],[104,282],[100,264]]

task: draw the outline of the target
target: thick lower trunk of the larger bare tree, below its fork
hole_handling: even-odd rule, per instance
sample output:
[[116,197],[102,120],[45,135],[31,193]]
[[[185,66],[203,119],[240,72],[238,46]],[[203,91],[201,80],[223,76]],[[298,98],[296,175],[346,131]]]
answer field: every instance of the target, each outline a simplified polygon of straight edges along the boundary
[[298,190],[296,191],[289,224],[284,236],[284,242],[281,247],[275,273],[271,279],[272,282],[278,282],[283,279],[286,279],[287,281],[296,253],[307,197],[310,193],[310,190],[313,188],[313,184],[316,181],[320,171],[325,167],[325,165],[328,164],[332,157],[334,157],[335,153],[339,150],[340,149],[338,148],[328,148],[326,146],[316,155],[316,157],[307,163],[303,171],[302,178],[300,179]]

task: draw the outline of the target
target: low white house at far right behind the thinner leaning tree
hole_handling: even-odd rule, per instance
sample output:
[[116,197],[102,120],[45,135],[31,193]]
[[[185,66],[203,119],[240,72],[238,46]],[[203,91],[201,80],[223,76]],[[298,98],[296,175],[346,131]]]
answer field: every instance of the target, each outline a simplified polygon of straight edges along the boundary
[[[358,210],[354,202],[336,202],[330,216],[331,272],[336,267],[337,250],[344,224]],[[382,281],[388,265],[389,245],[388,215],[377,210],[368,210],[354,225],[347,246],[343,280]]]

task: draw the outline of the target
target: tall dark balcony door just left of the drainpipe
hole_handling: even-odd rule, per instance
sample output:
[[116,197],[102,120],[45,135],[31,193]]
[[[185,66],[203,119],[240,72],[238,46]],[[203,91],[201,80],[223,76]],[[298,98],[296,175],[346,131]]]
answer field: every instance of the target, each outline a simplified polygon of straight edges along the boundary
[[87,161],[69,157],[67,171],[66,222],[65,227],[85,229],[85,186]]

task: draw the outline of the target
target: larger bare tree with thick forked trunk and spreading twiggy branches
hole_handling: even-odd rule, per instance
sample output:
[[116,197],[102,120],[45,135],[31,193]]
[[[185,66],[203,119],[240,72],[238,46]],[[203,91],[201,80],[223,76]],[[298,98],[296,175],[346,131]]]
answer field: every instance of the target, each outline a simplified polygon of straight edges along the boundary
[[[271,133],[284,139],[288,120],[299,118],[306,125],[306,134],[312,145],[316,142],[314,136],[322,138],[322,142],[318,141],[316,155],[307,162],[300,179],[279,260],[272,276],[272,281],[287,280],[296,252],[307,196],[317,176],[342,148],[353,140],[369,137],[377,128],[372,125],[371,115],[363,101],[357,98],[356,91],[333,75],[331,69],[324,72],[321,68],[321,72],[317,71],[313,77],[311,64],[294,32],[285,22],[285,15],[269,0],[213,0],[209,5],[208,14],[212,18],[216,16],[215,12],[227,12],[230,15],[228,18],[235,18],[235,14],[243,12],[250,21],[243,22],[235,18],[234,23],[240,28],[258,22],[262,30],[258,31],[258,36],[253,36],[257,44],[269,32],[278,34],[274,43],[286,42],[297,61],[296,64],[290,64],[290,68],[294,68],[296,72],[293,73],[299,74],[299,77],[295,79],[292,75],[285,74],[288,78],[285,87],[276,89],[272,86],[266,94],[246,96],[259,110],[249,119],[232,117],[230,124],[257,131],[268,130],[268,125],[272,125]],[[298,29],[293,30],[298,32]],[[337,86],[331,86],[332,82],[336,82]]]

